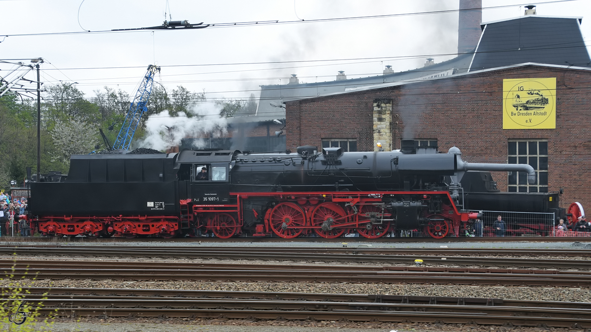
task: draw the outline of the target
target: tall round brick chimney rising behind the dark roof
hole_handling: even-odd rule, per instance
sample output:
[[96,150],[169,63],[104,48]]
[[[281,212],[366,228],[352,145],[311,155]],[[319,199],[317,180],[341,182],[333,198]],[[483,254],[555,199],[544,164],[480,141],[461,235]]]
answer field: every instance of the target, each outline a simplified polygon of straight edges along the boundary
[[[466,10],[478,8],[475,10]],[[457,53],[468,53],[476,48],[480,39],[482,0],[460,0],[460,18],[457,30]]]

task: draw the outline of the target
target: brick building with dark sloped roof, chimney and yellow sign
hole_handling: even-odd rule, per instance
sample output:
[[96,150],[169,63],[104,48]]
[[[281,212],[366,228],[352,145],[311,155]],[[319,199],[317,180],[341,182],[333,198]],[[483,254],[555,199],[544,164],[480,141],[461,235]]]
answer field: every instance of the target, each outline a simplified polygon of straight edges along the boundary
[[[460,1],[461,8],[479,5]],[[527,7],[522,17],[479,24],[471,51],[480,12],[464,12],[452,60],[428,59],[428,69],[385,71],[373,84],[340,81],[346,89],[285,101],[287,148],[375,151],[380,143],[389,150],[400,148],[401,139],[440,152],[456,146],[466,161],[530,164],[537,171],[532,185],[525,174],[493,173],[502,191],[563,188],[563,207],[579,201],[591,209],[591,139],[584,134],[591,59],[582,18],[544,17]]]

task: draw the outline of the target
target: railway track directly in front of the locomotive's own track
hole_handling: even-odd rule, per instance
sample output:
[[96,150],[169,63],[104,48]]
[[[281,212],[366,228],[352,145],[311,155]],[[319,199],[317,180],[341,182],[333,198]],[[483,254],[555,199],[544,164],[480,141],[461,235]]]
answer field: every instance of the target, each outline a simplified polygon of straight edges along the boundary
[[[475,255],[552,255],[560,259],[504,258]],[[144,257],[168,259],[249,259],[255,261],[315,261],[426,265],[511,266],[517,268],[590,269],[591,260],[564,259],[561,254],[588,257],[591,249],[395,249],[395,248],[276,248],[276,247],[138,247],[138,246],[1,246],[0,255]],[[442,255],[443,254],[443,255]],[[465,255],[465,256],[452,256]]]

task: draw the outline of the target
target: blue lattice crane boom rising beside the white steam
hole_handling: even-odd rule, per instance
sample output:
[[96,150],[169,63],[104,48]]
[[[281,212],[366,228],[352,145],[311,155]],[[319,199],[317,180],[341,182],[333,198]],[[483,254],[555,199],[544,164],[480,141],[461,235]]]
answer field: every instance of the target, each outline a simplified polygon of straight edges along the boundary
[[150,99],[150,93],[152,93],[152,84],[154,84],[154,75],[160,73],[160,67],[151,64],[148,66],[142,83],[139,84],[138,92],[135,93],[135,98],[129,105],[129,112],[125,116],[125,121],[115,144],[113,144],[113,150],[123,149],[128,150],[131,140],[134,138],[135,129],[138,128],[139,120],[142,118],[142,114],[147,110],[146,105],[148,99]]

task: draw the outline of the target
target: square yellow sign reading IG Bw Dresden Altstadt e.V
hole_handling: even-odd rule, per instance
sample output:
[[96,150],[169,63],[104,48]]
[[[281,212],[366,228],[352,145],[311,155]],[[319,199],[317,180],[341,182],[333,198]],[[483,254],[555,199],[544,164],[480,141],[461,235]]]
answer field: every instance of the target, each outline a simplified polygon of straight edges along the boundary
[[556,129],[556,77],[503,80],[503,129]]

